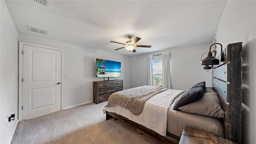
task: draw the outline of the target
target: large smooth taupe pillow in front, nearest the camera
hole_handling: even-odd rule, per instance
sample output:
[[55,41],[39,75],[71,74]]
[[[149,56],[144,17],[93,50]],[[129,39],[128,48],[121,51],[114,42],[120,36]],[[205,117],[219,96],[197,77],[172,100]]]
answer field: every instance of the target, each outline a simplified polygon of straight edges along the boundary
[[224,118],[224,111],[221,107],[220,100],[214,92],[205,92],[200,100],[182,106],[179,110],[214,118]]

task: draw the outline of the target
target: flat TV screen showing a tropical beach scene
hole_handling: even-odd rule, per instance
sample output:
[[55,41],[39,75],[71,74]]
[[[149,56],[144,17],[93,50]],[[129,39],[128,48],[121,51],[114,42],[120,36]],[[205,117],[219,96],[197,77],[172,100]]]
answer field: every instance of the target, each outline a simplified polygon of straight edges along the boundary
[[96,78],[121,77],[121,62],[96,58]]

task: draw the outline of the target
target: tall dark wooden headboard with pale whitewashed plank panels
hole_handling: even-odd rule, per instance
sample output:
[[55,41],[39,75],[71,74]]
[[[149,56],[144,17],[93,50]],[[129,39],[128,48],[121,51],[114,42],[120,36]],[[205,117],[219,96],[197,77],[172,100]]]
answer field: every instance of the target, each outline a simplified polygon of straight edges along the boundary
[[223,52],[224,62],[212,70],[212,87],[225,112],[225,137],[241,144],[242,42],[228,44]]

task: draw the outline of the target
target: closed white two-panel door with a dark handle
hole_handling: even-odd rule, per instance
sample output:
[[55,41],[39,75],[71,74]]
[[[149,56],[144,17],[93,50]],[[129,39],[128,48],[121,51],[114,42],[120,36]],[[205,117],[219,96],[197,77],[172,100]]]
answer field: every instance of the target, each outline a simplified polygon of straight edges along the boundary
[[22,119],[61,109],[61,51],[23,45]]

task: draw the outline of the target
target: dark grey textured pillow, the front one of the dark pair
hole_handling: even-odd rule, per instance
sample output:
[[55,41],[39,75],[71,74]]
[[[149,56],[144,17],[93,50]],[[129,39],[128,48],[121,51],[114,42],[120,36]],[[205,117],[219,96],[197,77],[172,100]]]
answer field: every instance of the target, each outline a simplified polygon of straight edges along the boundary
[[199,100],[204,94],[204,88],[202,87],[194,87],[190,88],[187,92],[182,94],[175,102],[173,109],[179,110],[178,108],[181,106],[185,106],[190,104],[196,100]]

